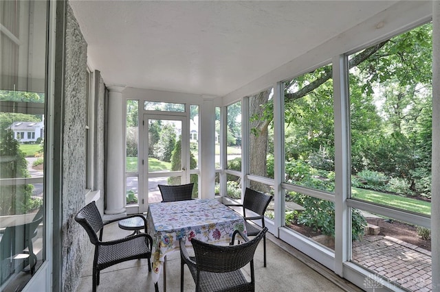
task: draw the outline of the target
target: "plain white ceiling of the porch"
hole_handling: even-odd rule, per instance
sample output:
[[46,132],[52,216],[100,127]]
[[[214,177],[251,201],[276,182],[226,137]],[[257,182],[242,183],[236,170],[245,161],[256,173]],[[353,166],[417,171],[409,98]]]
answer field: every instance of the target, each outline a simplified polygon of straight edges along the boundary
[[70,1],[107,85],[223,96],[396,1]]

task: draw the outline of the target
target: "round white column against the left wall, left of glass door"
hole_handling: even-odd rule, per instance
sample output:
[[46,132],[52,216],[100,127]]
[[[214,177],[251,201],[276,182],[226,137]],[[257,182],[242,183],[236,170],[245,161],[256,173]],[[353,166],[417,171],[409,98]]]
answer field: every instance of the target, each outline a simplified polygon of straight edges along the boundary
[[109,112],[107,122],[107,190],[105,214],[125,212],[124,192],[124,102],[122,86],[109,87]]

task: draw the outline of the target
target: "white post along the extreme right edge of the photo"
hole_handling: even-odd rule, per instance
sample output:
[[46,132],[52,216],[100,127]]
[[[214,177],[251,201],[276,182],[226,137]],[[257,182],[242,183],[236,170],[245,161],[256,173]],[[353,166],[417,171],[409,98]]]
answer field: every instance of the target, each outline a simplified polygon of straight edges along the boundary
[[432,291],[440,291],[440,1],[432,1]]

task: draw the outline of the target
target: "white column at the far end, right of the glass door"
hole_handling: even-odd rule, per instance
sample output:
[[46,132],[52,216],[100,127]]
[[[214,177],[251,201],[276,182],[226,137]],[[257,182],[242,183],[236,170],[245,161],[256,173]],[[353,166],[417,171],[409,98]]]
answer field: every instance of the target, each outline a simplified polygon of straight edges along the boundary
[[200,108],[200,198],[213,199],[215,188],[215,106],[204,100]]

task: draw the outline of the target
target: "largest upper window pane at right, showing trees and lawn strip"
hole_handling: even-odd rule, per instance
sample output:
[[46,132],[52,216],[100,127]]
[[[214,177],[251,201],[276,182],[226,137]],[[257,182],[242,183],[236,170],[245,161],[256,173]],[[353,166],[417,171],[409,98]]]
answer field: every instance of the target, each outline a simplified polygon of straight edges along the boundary
[[428,23],[349,56],[355,199],[430,215],[431,35]]

